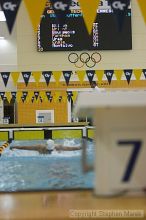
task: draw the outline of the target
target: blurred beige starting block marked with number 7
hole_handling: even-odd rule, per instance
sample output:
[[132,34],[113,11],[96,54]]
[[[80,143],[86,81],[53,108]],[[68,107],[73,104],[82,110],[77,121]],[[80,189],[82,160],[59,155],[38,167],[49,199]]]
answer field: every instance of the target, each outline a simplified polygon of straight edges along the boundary
[[141,194],[146,189],[146,91],[81,92],[74,113],[94,120],[95,194]]

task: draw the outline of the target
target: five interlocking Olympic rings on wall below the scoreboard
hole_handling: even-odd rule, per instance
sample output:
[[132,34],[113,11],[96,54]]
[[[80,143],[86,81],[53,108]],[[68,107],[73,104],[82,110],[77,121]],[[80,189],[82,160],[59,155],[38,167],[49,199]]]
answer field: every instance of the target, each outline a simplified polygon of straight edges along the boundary
[[68,60],[77,68],[82,68],[84,64],[89,68],[93,68],[101,61],[101,55],[98,52],[94,52],[91,55],[87,52],[83,52],[80,55],[73,52],[68,55]]

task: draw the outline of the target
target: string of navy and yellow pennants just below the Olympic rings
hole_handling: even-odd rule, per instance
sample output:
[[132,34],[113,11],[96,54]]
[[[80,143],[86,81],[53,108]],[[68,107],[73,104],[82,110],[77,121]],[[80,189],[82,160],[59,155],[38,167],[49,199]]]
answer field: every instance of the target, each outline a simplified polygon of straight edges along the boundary
[[[85,53],[84,53],[85,54]],[[86,54],[85,54],[86,55]],[[93,57],[92,57],[93,58]],[[70,57],[71,59],[71,57]],[[74,61],[77,58],[74,59]],[[84,59],[82,56],[81,60]],[[88,57],[86,59],[89,59]],[[95,58],[93,58],[95,59]],[[59,86],[64,83],[67,87],[71,86],[72,82],[88,82],[89,86],[93,81],[97,83],[107,82],[108,85],[116,81],[125,81],[127,85],[131,82],[146,82],[146,69],[123,69],[123,70],[80,70],[80,71],[34,71],[34,72],[1,72],[0,73],[0,86],[1,88],[11,88],[12,83],[17,86],[22,83],[24,87],[29,86],[29,83],[46,83],[50,87],[50,83],[55,83]],[[89,87],[88,86],[88,87]],[[78,85],[76,86],[78,87]],[[5,89],[3,89],[5,90]]]

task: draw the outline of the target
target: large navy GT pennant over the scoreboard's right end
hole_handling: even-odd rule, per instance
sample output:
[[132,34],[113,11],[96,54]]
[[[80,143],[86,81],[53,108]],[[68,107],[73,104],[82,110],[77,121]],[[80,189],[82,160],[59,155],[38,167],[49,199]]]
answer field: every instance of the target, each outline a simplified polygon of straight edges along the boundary
[[130,0],[108,0],[116,16],[119,31],[122,30],[124,18],[130,4]]

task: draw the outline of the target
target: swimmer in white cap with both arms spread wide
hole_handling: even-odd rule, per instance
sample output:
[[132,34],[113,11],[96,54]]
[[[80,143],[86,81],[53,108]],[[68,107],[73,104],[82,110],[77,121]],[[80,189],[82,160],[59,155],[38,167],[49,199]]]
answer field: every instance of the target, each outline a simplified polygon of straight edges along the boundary
[[18,150],[33,150],[38,151],[40,154],[51,154],[52,151],[56,150],[58,152],[61,151],[75,151],[75,150],[81,150],[81,146],[63,146],[61,144],[55,144],[55,142],[52,139],[48,139],[46,144],[42,145],[36,145],[36,146],[10,146],[10,149],[18,149]]

